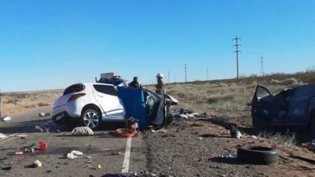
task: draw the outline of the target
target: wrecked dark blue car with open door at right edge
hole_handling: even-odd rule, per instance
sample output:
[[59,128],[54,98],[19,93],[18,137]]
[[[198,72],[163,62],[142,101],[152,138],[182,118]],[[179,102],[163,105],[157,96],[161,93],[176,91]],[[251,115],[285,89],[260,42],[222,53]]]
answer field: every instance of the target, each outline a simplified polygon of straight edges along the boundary
[[275,95],[257,85],[252,98],[252,124],[257,130],[301,126],[315,135],[315,84],[283,89]]

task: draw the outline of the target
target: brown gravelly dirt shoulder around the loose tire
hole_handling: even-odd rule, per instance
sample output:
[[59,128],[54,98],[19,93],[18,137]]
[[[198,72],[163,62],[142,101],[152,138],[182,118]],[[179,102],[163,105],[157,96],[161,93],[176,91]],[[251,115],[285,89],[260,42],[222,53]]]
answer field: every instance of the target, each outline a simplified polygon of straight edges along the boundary
[[[199,126],[196,126],[199,125]],[[146,142],[147,170],[167,172],[174,177],[314,177],[314,165],[289,157],[299,154],[314,158],[310,151],[289,147],[258,137],[243,135],[231,138],[223,127],[205,120],[176,120],[165,129],[167,133],[143,135]],[[204,134],[214,137],[200,138]],[[244,164],[236,158],[221,158],[220,154],[235,154],[237,145],[259,145],[277,148],[279,161],[272,165]]]

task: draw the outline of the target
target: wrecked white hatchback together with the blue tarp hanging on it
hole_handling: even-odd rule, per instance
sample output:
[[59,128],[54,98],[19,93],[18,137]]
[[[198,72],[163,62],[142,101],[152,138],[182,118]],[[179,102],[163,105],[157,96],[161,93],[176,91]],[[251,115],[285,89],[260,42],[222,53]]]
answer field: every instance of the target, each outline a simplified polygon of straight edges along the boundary
[[[115,79],[117,80],[117,78]],[[109,81],[111,84],[107,84]],[[103,83],[101,83],[103,82]],[[115,85],[120,86],[115,86]],[[79,83],[67,87],[54,102],[52,120],[72,127],[81,123],[97,129],[102,122],[137,118],[139,128],[164,126],[173,117],[168,110],[178,101],[170,95],[158,95],[148,89],[113,85],[112,80]]]

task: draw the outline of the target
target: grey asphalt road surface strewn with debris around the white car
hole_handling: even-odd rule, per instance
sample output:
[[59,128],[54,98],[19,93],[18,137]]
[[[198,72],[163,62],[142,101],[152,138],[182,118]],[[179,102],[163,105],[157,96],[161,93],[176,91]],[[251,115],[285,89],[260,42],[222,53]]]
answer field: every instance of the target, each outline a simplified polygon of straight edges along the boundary
[[[129,156],[125,154],[127,139],[110,135],[108,126],[104,127],[105,130],[95,131],[95,135],[89,137],[71,136],[69,131],[63,130],[61,133],[56,133],[55,130],[60,127],[52,123],[50,117],[38,117],[39,112],[50,111],[51,107],[43,107],[25,114],[11,115],[11,121],[0,122],[0,132],[6,135],[27,135],[27,139],[21,137],[0,139],[0,158],[6,158],[0,161],[0,165],[4,167],[5,164],[12,164],[11,170],[0,170],[1,177],[89,177],[90,175],[101,177],[107,173],[121,173],[124,170],[140,172],[145,169],[146,149],[143,148],[144,143],[140,136],[131,139]],[[43,124],[50,127],[50,132],[35,131],[36,125]],[[119,126],[115,124],[110,127]],[[46,151],[37,150],[34,154],[9,155],[10,152],[16,152],[24,146],[41,140],[48,143]],[[36,144],[35,147],[38,145]],[[79,150],[84,154],[73,160],[64,158],[63,154],[71,150]],[[109,155],[116,151],[120,151],[121,154]],[[88,159],[87,156],[92,158]],[[43,166],[24,168],[35,160],[42,162]],[[91,163],[87,163],[88,160]],[[96,170],[97,165],[101,165],[101,169]]]

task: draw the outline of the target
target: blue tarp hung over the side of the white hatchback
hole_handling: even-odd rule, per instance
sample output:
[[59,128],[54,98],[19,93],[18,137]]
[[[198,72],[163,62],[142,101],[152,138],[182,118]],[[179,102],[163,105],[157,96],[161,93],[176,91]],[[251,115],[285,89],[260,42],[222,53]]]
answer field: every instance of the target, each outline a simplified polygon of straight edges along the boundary
[[117,87],[119,97],[122,99],[126,118],[132,117],[139,121],[139,128],[148,127],[148,118],[146,112],[146,105],[144,102],[144,95],[142,89],[132,89],[126,87]]

